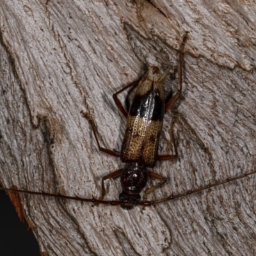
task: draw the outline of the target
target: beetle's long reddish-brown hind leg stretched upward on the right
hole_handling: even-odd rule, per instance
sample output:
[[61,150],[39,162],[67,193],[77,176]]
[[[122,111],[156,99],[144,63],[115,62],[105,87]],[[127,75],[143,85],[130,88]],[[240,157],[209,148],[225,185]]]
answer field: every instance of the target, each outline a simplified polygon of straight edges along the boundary
[[172,106],[175,104],[177,99],[179,99],[180,94],[182,92],[182,59],[183,59],[183,50],[184,46],[186,44],[186,40],[188,39],[188,32],[183,37],[182,44],[180,45],[180,51],[179,51],[179,84],[180,88],[179,91],[167,102],[165,108],[164,108],[164,113],[166,113]]

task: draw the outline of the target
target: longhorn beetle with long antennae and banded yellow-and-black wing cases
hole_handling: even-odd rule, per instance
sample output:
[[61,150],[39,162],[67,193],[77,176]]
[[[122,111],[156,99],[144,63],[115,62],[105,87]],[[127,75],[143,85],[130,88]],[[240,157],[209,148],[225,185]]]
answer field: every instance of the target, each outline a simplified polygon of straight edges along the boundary
[[[179,50],[179,90],[172,97],[172,99],[167,102],[167,104],[164,103],[163,83],[166,81],[170,68],[168,68],[162,75],[159,67],[149,67],[147,74],[143,77],[143,79],[141,79],[141,81],[134,81],[113,94],[117,108],[125,116],[125,118],[127,118],[124,140],[122,142],[120,153],[109,150],[108,148],[100,147],[97,126],[95,125],[92,116],[90,116],[89,112],[81,112],[82,116],[88,120],[92,127],[92,131],[99,150],[111,156],[120,157],[121,161],[125,163],[124,168],[121,168],[115,172],[111,172],[108,175],[102,177],[102,198],[106,195],[104,180],[118,176],[121,177],[123,191],[119,195],[119,200],[108,201],[102,200],[102,198],[81,198],[79,196],[66,196],[60,193],[52,194],[46,193],[44,191],[28,191],[15,188],[0,187],[0,190],[27,193],[32,195],[53,196],[70,200],[92,202],[95,204],[121,205],[121,207],[124,209],[131,209],[134,207],[134,205],[149,206],[159,204],[161,202],[166,202],[175,198],[197,193],[199,191],[203,191],[204,189],[219,186],[233,180],[242,179],[248,175],[256,173],[256,170],[254,170],[253,172],[244,173],[243,175],[239,175],[234,178],[228,178],[214,184],[208,184],[207,186],[186,191],[185,193],[179,195],[170,195],[160,200],[145,200],[148,193],[151,193],[156,188],[162,186],[167,180],[166,177],[151,172],[148,170],[148,168],[154,168],[156,161],[172,160],[178,157],[178,151],[173,136],[173,125],[171,125],[170,137],[173,141],[175,154],[158,156],[157,150],[159,144],[159,136],[163,126],[164,113],[172,108],[177,99],[179,99],[179,96],[182,92],[182,58],[184,54],[184,45],[187,39],[188,33],[186,33],[183,37]],[[124,92],[128,88],[131,88],[132,86],[138,86],[138,88],[135,92],[134,99],[132,100],[129,113],[127,113],[117,95]],[[140,202],[140,193],[147,185],[148,178],[157,179],[160,180],[160,182],[156,186],[152,186],[151,188],[146,189],[143,196],[144,201]]]

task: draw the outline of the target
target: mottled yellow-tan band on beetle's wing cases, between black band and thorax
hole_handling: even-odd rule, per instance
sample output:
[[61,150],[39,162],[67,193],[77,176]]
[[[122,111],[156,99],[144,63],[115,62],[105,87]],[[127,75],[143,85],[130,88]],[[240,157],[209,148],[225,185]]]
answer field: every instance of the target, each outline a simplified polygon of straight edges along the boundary
[[121,161],[156,164],[157,147],[163,121],[148,120],[140,116],[128,116],[122,144]]

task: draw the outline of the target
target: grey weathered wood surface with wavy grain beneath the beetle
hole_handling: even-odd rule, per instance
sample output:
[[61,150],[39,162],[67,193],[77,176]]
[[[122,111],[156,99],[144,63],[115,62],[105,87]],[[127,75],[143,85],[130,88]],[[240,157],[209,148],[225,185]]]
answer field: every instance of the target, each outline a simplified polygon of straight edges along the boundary
[[[62,3],[63,2],[63,3]],[[111,95],[147,65],[177,67],[189,31],[175,117],[179,159],[161,198],[255,168],[253,1],[7,1],[1,20],[1,183],[98,197],[124,164],[99,152],[80,111],[88,104],[105,146],[125,120]],[[177,90],[169,79],[166,91]],[[102,142],[103,144],[103,142]],[[256,255],[256,176],[145,209],[20,196],[43,255]],[[120,192],[109,180],[108,195]],[[44,254],[45,253],[45,254]]]

